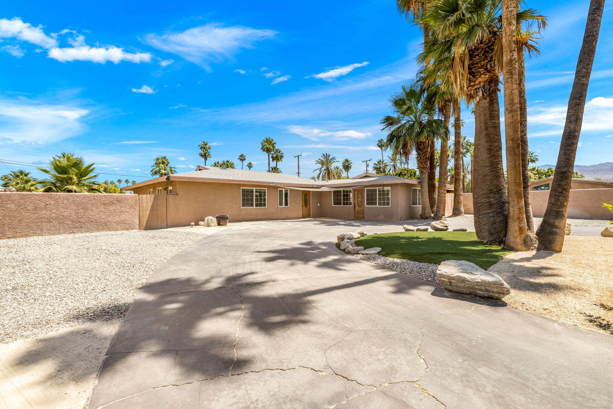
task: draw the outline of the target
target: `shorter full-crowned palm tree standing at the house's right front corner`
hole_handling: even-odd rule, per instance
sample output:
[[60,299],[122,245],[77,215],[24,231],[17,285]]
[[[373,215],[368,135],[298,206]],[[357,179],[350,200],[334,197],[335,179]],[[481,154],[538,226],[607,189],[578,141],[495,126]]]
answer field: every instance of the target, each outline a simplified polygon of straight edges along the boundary
[[427,91],[416,81],[402,87],[402,91],[390,98],[394,115],[386,115],[381,120],[382,130],[387,130],[386,147],[409,157],[415,147],[417,169],[422,191],[421,218],[432,217],[428,200],[428,170],[430,168],[430,140],[445,139],[449,129],[443,120],[435,119],[435,108],[428,104]]

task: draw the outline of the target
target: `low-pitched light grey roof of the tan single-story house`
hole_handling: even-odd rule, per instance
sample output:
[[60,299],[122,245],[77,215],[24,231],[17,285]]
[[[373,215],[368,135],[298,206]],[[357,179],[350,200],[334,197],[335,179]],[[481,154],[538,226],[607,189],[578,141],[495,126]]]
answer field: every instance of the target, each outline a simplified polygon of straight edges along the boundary
[[[337,180],[313,180],[309,178],[298,177],[289,174],[273,174],[271,172],[260,172],[258,170],[244,169],[224,169],[222,167],[213,166],[198,166],[197,170],[192,172],[183,172],[162,176],[145,182],[139,182],[135,185],[124,186],[121,190],[132,190],[139,186],[150,185],[151,183],[162,182],[163,180],[191,180],[202,182],[227,182],[227,183],[249,183],[249,184],[264,184],[264,185],[284,185],[284,186],[302,186],[308,188],[324,188],[324,187],[344,187],[344,186],[362,186],[373,185],[380,183],[412,183],[418,184],[419,180],[405,179],[395,176],[377,175]],[[447,185],[447,189],[452,189],[452,185]]]

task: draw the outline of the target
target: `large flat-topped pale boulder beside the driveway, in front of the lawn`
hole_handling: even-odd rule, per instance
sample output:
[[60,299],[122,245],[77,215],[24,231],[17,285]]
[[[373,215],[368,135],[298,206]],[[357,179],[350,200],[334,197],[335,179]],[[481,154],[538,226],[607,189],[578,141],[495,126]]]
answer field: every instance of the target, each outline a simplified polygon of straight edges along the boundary
[[443,261],[438,266],[436,275],[441,286],[449,291],[498,299],[508,296],[511,292],[511,287],[498,275],[468,261]]

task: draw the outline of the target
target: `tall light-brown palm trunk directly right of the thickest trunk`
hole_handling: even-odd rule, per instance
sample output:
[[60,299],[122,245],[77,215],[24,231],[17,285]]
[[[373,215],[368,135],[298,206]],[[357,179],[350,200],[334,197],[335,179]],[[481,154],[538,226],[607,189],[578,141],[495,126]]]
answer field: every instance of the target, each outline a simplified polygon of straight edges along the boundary
[[519,70],[517,67],[517,0],[502,1],[502,33],[504,142],[506,145],[508,194],[508,217],[504,247],[525,251],[536,247],[536,240],[528,231],[524,208]]

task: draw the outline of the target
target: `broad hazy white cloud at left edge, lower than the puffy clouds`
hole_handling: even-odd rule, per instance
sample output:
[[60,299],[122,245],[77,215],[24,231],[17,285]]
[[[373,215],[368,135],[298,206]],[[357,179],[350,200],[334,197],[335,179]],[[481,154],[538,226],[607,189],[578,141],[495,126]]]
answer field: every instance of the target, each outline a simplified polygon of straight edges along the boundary
[[83,133],[86,109],[29,99],[0,99],[0,141],[47,143]]

